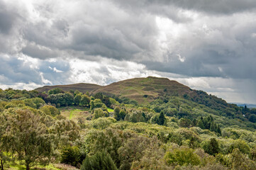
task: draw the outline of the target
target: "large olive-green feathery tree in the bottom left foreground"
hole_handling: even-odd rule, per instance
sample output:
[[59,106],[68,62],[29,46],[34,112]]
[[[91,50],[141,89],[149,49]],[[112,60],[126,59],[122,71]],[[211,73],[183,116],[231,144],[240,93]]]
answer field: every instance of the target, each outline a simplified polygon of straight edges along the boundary
[[24,160],[26,170],[36,163],[48,164],[53,147],[40,115],[28,110],[18,110],[9,118],[11,149]]

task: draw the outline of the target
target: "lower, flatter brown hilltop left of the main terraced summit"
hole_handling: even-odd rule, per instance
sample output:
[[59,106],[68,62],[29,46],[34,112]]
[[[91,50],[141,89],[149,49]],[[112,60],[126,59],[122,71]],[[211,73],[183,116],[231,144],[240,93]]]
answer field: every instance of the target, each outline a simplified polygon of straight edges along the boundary
[[39,91],[39,92],[47,92],[50,89],[55,89],[55,88],[60,88],[64,91],[75,91],[78,90],[82,93],[86,93],[87,91],[91,92],[94,91],[96,89],[101,88],[101,86],[97,85],[97,84],[84,84],[84,83],[80,83],[80,84],[69,84],[69,85],[56,85],[56,86],[43,86],[43,87],[39,87],[38,89],[35,89],[35,91]]

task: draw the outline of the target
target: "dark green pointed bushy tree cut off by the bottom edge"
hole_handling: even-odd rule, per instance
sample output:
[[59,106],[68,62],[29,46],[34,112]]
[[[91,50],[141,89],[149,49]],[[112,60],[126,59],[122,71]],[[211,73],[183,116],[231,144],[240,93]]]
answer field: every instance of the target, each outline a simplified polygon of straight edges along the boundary
[[84,159],[81,170],[91,169],[117,170],[116,165],[106,151],[97,152],[93,156]]

